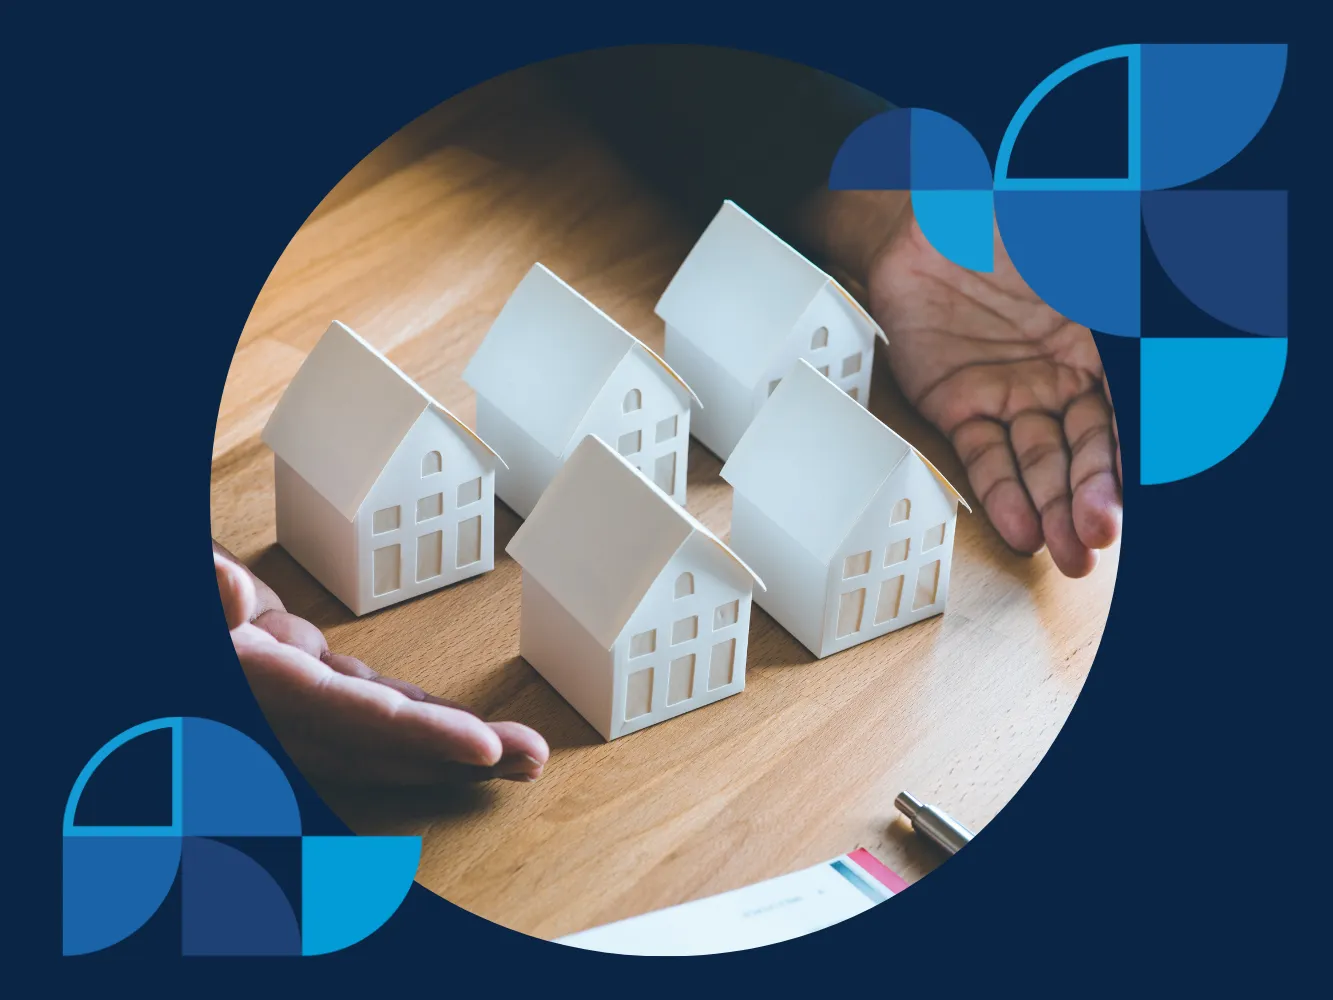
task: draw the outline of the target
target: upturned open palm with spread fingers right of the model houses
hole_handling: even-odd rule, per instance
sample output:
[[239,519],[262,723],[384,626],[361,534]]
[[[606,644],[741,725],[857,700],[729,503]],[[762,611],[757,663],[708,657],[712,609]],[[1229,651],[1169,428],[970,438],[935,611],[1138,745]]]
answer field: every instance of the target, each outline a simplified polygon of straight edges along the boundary
[[1120,449],[1090,331],[1042,303],[996,232],[992,273],[906,219],[869,269],[904,393],[957,449],[1001,537],[1085,576],[1120,535]]

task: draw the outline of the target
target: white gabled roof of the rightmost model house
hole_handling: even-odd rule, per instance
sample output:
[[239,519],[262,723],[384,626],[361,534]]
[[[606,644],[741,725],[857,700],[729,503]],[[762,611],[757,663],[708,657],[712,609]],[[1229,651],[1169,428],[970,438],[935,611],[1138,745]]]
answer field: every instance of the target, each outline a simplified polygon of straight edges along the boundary
[[722,479],[828,563],[904,461],[924,463],[972,511],[925,456],[801,360],[741,436]]

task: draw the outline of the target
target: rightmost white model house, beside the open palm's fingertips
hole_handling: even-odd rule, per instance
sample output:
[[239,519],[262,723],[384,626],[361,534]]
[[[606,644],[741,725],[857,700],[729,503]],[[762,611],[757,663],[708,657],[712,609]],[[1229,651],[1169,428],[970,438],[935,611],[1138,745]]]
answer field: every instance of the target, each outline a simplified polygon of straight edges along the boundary
[[938,615],[958,504],[918,451],[798,361],[722,479],[732,548],[762,575],[764,611],[816,656]]

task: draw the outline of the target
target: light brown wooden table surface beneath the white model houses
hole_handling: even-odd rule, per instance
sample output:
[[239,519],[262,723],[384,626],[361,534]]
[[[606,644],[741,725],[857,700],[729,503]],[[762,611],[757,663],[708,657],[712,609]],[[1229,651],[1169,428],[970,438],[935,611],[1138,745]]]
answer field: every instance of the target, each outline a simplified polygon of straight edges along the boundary
[[[461,373],[540,260],[661,349],[653,304],[697,233],[528,73],[475,88],[359,164],[292,239],[241,332],[213,444],[213,533],[333,649],[547,736],[533,784],[321,789],[361,833],[417,833],[417,880],[543,937],[870,848],[909,881],[940,855],[894,821],[909,789],[980,829],[1050,747],[1092,664],[1118,551],[1085,580],[960,511],[946,615],[814,660],[757,605],[745,692],[605,744],[519,657],[519,519],[496,568],[352,617],[275,543],[259,433],[328,323],[369,339],[465,421]],[[946,441],[876,359],[870,409],[957,485]],[[726,537],[730,487],[690,443],[688,507]],[[980,509],[980,508],[977,508]]]

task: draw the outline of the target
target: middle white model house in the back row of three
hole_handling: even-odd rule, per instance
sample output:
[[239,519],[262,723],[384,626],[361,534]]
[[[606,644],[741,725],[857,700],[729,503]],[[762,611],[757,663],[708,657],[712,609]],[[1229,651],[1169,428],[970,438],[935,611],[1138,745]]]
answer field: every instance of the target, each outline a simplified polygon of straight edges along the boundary
[[520,517],[588,435],[685,503],[689,385],[541,264],[509,296],[463,377],[477,393],[477,433],[509,463],[496,473],[496,496]]

